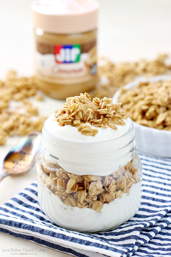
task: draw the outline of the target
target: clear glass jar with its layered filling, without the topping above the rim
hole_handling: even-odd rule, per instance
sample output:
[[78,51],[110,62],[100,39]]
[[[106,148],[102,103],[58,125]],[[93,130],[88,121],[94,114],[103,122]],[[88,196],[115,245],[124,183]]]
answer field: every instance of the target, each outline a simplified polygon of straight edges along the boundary
[[141,204],[142,165],[132,121],[125,134],[101,142],[57,137],[47,123],[37,162],[44,213],[59,226],[89,233],[114,229],[133,217]]

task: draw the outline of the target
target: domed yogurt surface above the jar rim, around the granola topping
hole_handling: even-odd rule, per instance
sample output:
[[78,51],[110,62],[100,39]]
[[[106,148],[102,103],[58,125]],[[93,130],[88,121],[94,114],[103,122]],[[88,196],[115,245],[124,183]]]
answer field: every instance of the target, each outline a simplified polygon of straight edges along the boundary
[[126,125],[121,126],[117,125],[117,130],[107,127],[107,128],[98,128],[92,126],[90,123],[87,123],[92,128],[98,128],[98,133],[95,136],[85,136],[78,131],[77,127],[72,125],[66,125],[61,127],[57,121],[54,120],[54,115],[50,116],[45,124],[44,128],[52,137],[57,137],[63,140],[68,140],[70,142],[79,142],[79,143],[93,143],[93,142],[104,142],[108,140],[112,140],[115,138],[119,138],[123,136],[131,125],[131,119],[124,119]]

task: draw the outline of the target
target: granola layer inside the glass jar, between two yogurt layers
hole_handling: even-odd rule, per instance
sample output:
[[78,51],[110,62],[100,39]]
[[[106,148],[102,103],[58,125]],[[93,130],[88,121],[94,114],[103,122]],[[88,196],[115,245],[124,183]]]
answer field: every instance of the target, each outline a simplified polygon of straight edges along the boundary
[[133,162],[132,159],[108,176],[80,176],[66,172],[58,164],[52,165],[45,161],[42,166],[42,182],[64,204],[100,212],[103,204],[121,198],[134,183],[139,182],[138,170]]

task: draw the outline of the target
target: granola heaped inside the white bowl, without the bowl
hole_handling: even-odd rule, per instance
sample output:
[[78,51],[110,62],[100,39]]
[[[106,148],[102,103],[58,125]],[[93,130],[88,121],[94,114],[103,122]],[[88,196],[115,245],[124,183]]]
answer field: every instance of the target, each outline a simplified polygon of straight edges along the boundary
[[171,80],[141,82],[131,90],[122,88],[119,101],[136,123],[171,131]]

